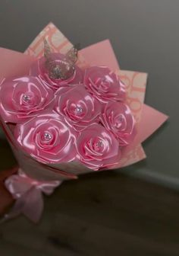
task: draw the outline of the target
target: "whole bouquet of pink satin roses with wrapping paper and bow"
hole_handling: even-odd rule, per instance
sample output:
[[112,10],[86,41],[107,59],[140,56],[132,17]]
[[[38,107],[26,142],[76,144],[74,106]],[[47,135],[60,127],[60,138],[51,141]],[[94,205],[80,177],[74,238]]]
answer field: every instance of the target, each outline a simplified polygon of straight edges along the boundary
[[18,167],[4,219],[42,214],[42,193],[91,171],[146,157],[141,143],[167,120],[143,104],[146,73],[121,71],[108,40],[78,50],[53,25],[27,51],[0,49],[0,117]]

